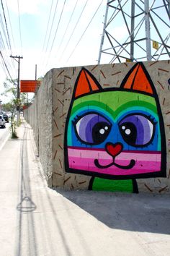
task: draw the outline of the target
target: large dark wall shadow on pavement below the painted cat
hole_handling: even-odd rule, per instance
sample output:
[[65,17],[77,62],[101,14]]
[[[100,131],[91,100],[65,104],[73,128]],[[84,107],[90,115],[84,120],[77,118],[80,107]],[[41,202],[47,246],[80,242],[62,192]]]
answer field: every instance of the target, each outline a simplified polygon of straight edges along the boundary
[[170,234],[169,195],[58,191],[112,229]]

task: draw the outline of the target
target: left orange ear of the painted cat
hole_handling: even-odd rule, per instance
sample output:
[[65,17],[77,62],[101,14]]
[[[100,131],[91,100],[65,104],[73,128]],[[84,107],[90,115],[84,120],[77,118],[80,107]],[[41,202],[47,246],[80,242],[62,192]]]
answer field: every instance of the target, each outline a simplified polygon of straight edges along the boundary
[[101,89],[102,87],[99,85],[96,78],[87,69],[81,69],[76,80],[74,97],[77,98],[81,95],[93,93]]

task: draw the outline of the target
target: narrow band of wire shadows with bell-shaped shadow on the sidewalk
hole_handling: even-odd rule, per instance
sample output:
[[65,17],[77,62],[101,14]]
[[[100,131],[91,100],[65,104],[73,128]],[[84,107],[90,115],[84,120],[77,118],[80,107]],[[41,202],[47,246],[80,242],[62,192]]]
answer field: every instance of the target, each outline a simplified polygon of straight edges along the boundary
[[17,241],[16,253],[17,256],[22,256],[24,252],[24,238],[27,238],[27,255],[37,255],[37,236],[35,231],[35,221],[33,212],[37,206],[32,201],[32,189],[30,186],[30,161],[29,147],[30,130],[27,130],[26,125],[23,125],[24,132],[21,138],[17,139],[20,144],[20,163],[19,163],[19,190],[16,210],[17,215]]

